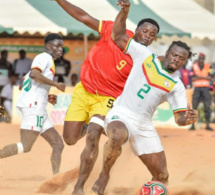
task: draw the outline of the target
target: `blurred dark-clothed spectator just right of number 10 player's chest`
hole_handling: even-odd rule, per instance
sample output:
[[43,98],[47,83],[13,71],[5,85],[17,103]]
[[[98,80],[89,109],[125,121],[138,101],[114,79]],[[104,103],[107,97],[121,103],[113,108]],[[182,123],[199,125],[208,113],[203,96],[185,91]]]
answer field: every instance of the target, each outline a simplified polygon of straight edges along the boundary
[[56,59],[55,63],[55,81],[66,83],[66,79],[71,70],[70,61],[64,58],[65,49],[63,49],[63,55],[61,58]]

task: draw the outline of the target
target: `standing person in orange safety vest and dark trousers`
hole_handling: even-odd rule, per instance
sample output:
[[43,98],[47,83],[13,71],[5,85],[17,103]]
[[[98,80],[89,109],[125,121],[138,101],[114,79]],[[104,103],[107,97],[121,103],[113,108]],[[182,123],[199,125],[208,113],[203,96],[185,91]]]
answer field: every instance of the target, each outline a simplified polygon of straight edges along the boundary
[[[213,131],[210,127],[210,116],[211,116],[211,96],[210,96],[210,82],[212,75],[210,74],[211,66],[205,61],[205,54],[200,53],[196,63],[193,64],[193,77],[192,85],[194,87],[193,93],[193,108],[197,109],[199,102],[204,103],[204,112],[206,119],[206,130]],[[195,130],[194,124],[192,124],[190,130]]]

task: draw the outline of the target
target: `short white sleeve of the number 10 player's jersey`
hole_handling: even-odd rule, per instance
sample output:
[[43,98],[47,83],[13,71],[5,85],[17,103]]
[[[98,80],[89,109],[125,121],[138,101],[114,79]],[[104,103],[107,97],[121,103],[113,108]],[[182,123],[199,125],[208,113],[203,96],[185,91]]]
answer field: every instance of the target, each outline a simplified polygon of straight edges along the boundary
[[38,69],[41,72],[43,72],[48,64],[49,59],[47,58],[46,55],[40,54],[37,55],[31,65],[31,70],[32,69]]

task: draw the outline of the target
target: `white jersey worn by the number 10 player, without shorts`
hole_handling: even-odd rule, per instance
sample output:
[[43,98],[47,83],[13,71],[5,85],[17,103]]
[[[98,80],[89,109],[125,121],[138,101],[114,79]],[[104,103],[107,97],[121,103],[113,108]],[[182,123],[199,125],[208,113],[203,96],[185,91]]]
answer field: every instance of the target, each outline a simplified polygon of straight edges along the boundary
[[[32,69],[39,69],[41,74],[53,80],[55,74],[55,64],[50,54],[43,52],[37,55],[31,65]],[[28,72],[23,81],[17,107],[37,107],[38,113],[43,114],[48,103],[49,85],[41,84],[29,77]],[[37,114],[38,114],[37,113]]]

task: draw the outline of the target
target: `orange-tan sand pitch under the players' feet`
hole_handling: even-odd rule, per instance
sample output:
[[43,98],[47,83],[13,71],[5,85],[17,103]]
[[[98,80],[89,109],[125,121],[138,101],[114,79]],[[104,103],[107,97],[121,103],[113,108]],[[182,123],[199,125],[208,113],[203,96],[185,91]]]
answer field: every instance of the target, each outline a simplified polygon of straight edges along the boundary
[[[62,126],[56,126],[62,135]],[[158,129],[167,156],[170,195],[215,194],[215,132],[204,129]],[[19,141],[19,125],[0,123],[0,148]],[[102,165],[102,150],[107,137],[102,135],[96,165],[85,185],[86,195],[97,179]],[[80,154],[85,138],[75,146],[65,145],[61,173],[52,177],[51,147],[42,138],[31,152],[0,159],[0,195],[71,195],[78,175]],[[66,174],[67,173],[67,174]],[[151,175],[135,157],[129,143],[111,171],[106,195],[138,195]],[[45,193],[46,192],[46,193]]]

